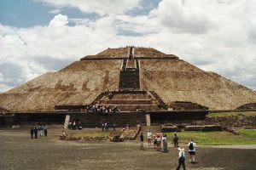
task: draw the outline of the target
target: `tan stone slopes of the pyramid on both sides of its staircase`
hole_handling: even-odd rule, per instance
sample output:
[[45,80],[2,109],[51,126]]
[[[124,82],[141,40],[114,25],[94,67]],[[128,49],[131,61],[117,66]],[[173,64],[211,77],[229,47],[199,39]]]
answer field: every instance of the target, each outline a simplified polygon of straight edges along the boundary
[[[55,105],[90,105],[102,91],[119,90],[121,63],[128,59],[129,48],[108,48],[61,71],[26,82],[0,94],[0,107],[32,112],[54,111]],[[154,48],[133,49],[133,57],[140,66],[139,88],[154,91],[166,105],[188,101],[210,110],[234,110],[240,105],[256,103],[253,90],[216,73],[202,71]],[[190,109],[187,106],[183,108]]]

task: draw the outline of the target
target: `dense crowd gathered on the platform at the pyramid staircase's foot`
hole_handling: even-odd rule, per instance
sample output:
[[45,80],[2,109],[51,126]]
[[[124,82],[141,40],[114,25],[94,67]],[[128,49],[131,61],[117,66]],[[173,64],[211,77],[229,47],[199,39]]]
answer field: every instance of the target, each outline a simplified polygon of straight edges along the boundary
[[109,105],[90,105],[87,108],[87,112],[108,115],[111,113],[118,113],[120,111],[116,105],[114,105],[113,108]]

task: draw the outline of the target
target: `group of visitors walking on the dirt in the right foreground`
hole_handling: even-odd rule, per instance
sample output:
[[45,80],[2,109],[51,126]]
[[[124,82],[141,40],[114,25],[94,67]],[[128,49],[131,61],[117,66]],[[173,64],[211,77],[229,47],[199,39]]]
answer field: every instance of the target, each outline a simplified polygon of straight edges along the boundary
[[[167,152],[167,136],[165,133],[156,133],[155,135],[151,133],[150,130],[148,130],[147,133],[147,139],[148,139],[148,146],[152,146],[152,140],[153,140],[153,148],[157,151],[163,151]],[[140,149],[144,150],[143,148],[143,142],[144,142],[144,136],[143,133],[140,135]],[[178,147],[178,136],[177,133],[173,134],[173,144],[174,147]],[[194,139],[191,139],[191,141],[188,144],[188,150],[189,150],[189,161],[191,163],[195,163],[195,149],[196,144]],[[185,149],[183,147],[178,147],[178,166],[177,170],[180,169],[181,166],[183,166],[183,169],[186,169],[185,166]]]

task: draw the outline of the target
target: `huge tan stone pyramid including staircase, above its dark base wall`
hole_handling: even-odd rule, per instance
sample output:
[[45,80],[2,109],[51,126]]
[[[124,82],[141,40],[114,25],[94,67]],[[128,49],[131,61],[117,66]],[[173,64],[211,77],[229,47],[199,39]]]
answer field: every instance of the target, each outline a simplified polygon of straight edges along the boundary
[[[125,111],[255,109],[256,93],[154,48],[108,48],[0,94],[0,111],[120,105]],[[253,106],[252,106],[253,105]]]

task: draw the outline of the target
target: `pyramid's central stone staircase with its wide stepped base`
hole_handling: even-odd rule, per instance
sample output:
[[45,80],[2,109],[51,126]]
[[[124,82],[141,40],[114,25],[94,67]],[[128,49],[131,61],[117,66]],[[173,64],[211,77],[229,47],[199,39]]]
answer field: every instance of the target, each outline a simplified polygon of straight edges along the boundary
[[134,58],[134,48],[130,47],[127,59],[123,60],[119,91],[100,94],[92,105],[117,106],[120,111],[160,111],[166,110],[165,103],[154,91],[140,90],[140,63]]

